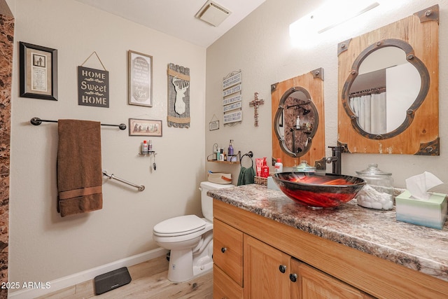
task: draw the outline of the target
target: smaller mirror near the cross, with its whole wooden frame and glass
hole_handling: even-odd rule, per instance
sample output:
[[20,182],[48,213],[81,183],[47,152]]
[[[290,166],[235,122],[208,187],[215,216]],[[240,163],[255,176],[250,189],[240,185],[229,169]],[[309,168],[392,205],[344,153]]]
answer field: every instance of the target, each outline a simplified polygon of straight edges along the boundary
[[273,84],[272,157],[283,167],[325,156],[323,134],[323,69]]

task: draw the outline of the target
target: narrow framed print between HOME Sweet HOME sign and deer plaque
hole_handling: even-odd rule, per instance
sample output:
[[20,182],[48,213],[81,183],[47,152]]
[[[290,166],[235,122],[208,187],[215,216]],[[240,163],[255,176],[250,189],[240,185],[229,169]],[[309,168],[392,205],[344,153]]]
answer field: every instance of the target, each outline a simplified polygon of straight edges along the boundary
[[153,106],[153,57],[128,51],[129,104]]

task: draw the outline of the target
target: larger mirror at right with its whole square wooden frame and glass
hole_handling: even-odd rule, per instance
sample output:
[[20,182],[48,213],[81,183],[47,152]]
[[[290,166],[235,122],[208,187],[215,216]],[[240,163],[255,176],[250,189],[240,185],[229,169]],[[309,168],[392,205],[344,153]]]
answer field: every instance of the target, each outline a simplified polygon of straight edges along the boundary
[[438,155],[437,20],[433,6],[339,43],[338,143],[345,152]]

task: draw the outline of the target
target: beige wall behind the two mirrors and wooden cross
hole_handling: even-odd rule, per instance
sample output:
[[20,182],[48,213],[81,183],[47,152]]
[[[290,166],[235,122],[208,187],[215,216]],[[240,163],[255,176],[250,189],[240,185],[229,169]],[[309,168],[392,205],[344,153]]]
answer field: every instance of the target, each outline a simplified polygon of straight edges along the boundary
[[[343,154],[342,173],[355,175],[371,162],[377,162],[379,168],[392,172],[395,186],[404,188],[405,179],[424,171],[433,172],[442,181],[448,181],[448,97],[447,76],[444,68],[448,60],[448,1],[388,1],[381,0],[379,6],[359,18],[346,22],[321,34],[321,39],[309,48],[293,48],[290,46],[288,27],[318,8],[324,1],[267,0],[255,12],[248,15],[228,34],[207,48],[207,109],[206,125],[214,114],[223,120],[222,112],[222,80],[231,71],[242,71],[243,122],[234,127],[224,127],[209,132],[206,130],[206,155],[211,154],[214,143],[228,146],[229,139],[235,140],[235,148],[243,153],[253,151],[255,157],[272,155],[271,133],[271,95],[270,85],[288,78],[307,73],[318,67],[324,69],[324,102],[325,102],[325,148],[337,145],[337,43],[351,37],[370,32],[388,25],[416,11],[439,4],[440,6],[440,151],[441,155],[377,155],[377,154]],[[306,43],[307,41],[303,41]],[[253,125],[253,108],[248,102],[253,93],[259,92],[259,98],[265,104],[259,109],[259,127]],[[331,155],[327,148],[327,155]],[[248,160],[244,161],[248,165]],[[249,164],[250,165],[250,164]],[[232,172],[237,177],[239,167],[219,165],[207,162],[207,169]],[[270,167],[271,172],[274,170]],[[328,165],[328,172],[331,165]],[[447,184],[437,190],[448,191]]]

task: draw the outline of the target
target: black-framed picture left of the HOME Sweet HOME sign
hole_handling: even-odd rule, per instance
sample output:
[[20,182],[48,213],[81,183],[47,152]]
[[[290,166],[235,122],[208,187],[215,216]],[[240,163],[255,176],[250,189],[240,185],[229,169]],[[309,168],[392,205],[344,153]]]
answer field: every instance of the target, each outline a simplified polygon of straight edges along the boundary
[[20,41],[20,97],[57,101],[57,50]]

